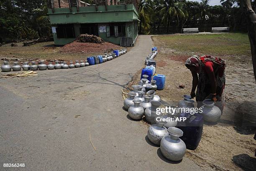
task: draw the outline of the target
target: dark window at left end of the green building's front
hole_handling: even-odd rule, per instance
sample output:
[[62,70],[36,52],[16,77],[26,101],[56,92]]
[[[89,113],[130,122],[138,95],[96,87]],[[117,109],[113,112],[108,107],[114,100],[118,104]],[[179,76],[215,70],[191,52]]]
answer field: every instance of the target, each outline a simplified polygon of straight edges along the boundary
[[75,38],[73,25],[58,25],[56,33],[57,38]]

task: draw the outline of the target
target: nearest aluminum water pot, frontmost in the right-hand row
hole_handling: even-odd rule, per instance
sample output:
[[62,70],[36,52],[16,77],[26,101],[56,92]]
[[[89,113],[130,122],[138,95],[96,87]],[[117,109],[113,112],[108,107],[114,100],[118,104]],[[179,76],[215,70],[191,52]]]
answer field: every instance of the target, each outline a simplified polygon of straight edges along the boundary
[[179,137],[182,130],[175,127],[168,128],[169,136],[162,138],[160,150],[163,156],[171,161],[180,161],[186,153],[186,145]]

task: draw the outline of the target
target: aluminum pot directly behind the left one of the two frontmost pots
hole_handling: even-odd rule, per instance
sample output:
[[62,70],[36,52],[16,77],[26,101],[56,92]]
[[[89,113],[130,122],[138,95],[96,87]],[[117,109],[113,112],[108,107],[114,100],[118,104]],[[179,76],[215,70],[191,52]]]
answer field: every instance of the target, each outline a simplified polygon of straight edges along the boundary
[[146,121],[148,121],[151,124],[155,124],[156,122],[154,121],[154,119],[156,118],[156,116],[163,116],[161,112],[156,112],[157,108],[159,108],[160,106],[160,101],[151,101],[151,107],[146,108],[144,113]]

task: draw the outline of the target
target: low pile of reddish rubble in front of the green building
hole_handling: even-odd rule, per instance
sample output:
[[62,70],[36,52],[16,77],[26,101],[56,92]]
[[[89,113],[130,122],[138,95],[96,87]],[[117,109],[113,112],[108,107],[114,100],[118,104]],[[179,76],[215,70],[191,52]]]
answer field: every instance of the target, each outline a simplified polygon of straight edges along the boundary
[[120,49],[121,46],[115,45],[113,43],[80,43],[72,42],[64,45],[61,48],[61,52],[64,53],[104,53],[104,50],[110,51],[115,49]]

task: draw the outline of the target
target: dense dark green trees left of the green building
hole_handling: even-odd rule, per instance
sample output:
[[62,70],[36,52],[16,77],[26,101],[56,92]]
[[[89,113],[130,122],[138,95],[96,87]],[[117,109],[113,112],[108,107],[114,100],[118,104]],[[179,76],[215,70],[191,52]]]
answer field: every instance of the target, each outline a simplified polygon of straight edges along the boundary
[[48,35],[46,13],[46,0],[1,0],[0,42]]

